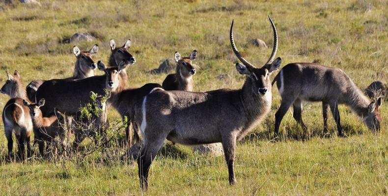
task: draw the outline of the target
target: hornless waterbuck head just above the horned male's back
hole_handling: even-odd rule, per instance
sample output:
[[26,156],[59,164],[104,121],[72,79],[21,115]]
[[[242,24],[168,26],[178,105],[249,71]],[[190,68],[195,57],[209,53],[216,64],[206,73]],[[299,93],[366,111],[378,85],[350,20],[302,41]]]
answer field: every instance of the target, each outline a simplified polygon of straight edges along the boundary
[[188,78],[195,74],[195,68],[192,64],[197,57],[197,51],[193,50],[189,57],[181,58],[179,52],[175,52],[176,73],[179,73],[182,78]]

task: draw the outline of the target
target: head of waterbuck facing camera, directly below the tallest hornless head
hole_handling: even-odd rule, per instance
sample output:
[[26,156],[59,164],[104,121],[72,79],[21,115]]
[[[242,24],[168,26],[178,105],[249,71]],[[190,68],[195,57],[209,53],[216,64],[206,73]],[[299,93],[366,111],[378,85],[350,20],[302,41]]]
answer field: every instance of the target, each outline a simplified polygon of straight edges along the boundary
[[103,62],[98,61],[97,67],[99,70],[104,71],[107,76],[105,88],[108,89],[108,91],[114,92],[120,85],[119,74],[127,67],[127,64],[121,61],[118,67],[107,68]]

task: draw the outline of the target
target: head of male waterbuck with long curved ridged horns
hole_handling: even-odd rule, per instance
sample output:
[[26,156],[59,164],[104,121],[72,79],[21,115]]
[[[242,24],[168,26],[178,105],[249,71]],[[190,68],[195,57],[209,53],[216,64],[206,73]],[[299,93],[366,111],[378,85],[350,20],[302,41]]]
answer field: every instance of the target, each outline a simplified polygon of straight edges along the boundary
[[240,74],[248,75],[247,79],[250,80],[251,90],[255,95],[261,95],[261,96],[265,96],[267,92],[272,91],[272,85],[271,85],[271,80],[269,76],[274,71],[277,71],[281,64],[280,57],[277,57],[277,59],[275,59],[275,55],[277,52],[277,31],[271,18],[269,16],[268,18],[271,22],[271,25],[274,31],[274,48],[272,49],[271,57],[269,58],[267,63],[261,68],[256,68],[255,66],[250,64],[247,60],[245,60],[244,57],[241,56],[233,40],[234,21],[232,21],[232,25],[230,26],[230,44],[232,45],[234,54],[242,62],[242,63],[236,63],[236,69]]

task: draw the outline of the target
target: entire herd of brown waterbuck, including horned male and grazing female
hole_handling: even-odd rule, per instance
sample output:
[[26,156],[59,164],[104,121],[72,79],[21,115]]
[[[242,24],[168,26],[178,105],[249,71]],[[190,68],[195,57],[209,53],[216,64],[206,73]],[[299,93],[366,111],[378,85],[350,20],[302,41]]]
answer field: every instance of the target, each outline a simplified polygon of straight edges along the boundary
[[[74,47],[77,60],[72,77],[34,80],[25,88],[18,71],[6,73],[7,80],[0,91],[10,97],[2,112],[8,156],[13,155],[13,133],[17,139],[17,157],[20,160],[26,157],[26,146],[27,157],[31,156],[32,132],[42,157],[46,155],[45,143],[46,150],[49,147],[55,149],[55,155],[57,141],[67,148],[64,139],[69,138],[71,133],[75,135],[71,146],[77,150],[85,137],[103,135],[108,129],[108,109],[112,106],[127,123],[125,133],[128,147],[134,144],[140,146],[137,162],[142,189],[148,187],[151,163],[166,139],[183,145],[222,143],[229,183],[234,184],[236,141],[267,117],[271,110],[272,86],[275,83],[281,96],[281,105],[275,115],[276,135],[291,105],[294,119],[306,128],[302,121],[303,101],[322,102],[324,132],[329,131],[327,119],[330,108],[337,124],[338,136],[345,136],[338,104],[349,105],[370,130],[378,131],[382,120],[379,113],[381,98],[376,102],[371,101],[338,68],[314,63],[290,63],[271,81],[270,76],[280,69],[281,58],[276,58],[277,29],[271,18],[268,18],[274,33],[274,45],[267,63],[260,67],[255,67],[240,54],[233,38],[232,21],[230,44],[241,61],[235,67],[238,73],[246,75],[243,86],[237,90],[194,92],[193,75],[196,70],[192,61],[197,58],[196,50],[188,57],[181,57],[175,52],[176,73],[167,75],[163,85],[148,83],[140,88],[128,88],[126,68],[136,63],[135,57],[129,52],[131,40],[126,41],[122,47],[117,47],[114,40],[111,40],[109,67],[102,61],[93,61],[92,56],[98,51],[97,45],[88,51]],[[105,74],[95,76],[93,71],[96,68]],[[88,103],[97,112],[85,118],[80,108]],[[59,140],[55,140],[56,137]]]

